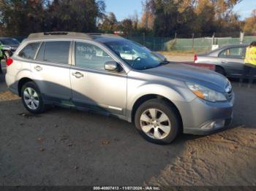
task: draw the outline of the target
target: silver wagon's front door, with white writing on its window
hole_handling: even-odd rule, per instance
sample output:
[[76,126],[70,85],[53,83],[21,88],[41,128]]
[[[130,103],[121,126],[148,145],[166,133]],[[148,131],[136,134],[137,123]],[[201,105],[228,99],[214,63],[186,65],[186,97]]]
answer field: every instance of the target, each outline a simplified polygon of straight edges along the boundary
[[72,55],[70,79],[75,105],[125,115],[127,74],[124,70],[105,70],[105,62],[115,61],[108,50],[91,42],[75,42]]

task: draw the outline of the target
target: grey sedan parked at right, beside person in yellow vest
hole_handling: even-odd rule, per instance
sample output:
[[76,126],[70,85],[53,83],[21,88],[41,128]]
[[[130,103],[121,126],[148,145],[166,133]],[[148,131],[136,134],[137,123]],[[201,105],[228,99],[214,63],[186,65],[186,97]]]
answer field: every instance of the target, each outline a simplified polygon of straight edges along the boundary
[[233,44],[219,47],[212,52],[195,55],[195,63],[215,65],[215,71],[226,77],[240,77],[243,74],[248,46],[249,44]]

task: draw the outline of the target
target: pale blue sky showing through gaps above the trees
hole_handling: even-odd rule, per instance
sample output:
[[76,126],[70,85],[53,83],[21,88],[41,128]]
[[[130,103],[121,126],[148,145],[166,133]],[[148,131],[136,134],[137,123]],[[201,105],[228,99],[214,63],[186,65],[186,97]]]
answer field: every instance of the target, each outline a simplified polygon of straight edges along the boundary
[[[129,15],[133,15],[135,10],[142,15],[141,0],[105,0],[106,12],[114,12],[117,20],[123,20]],[[237,4],[234,11],[241,15],[241,20],[251,15],[252,10],[256,9],[256,0],[242,0]]]

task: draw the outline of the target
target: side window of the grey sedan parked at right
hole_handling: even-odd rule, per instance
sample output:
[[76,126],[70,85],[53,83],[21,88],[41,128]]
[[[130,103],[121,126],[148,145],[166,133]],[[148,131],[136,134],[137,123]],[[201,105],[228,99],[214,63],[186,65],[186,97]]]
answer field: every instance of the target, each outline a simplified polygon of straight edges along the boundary
[[246,47],[230,47],[219,53],[220,58],[244,58]]

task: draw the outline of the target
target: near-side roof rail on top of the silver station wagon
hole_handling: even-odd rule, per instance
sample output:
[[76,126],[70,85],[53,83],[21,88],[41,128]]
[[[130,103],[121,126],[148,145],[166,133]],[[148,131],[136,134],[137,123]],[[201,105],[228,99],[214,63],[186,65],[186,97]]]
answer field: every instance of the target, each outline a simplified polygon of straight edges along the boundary
[[93,39],[90,34],[67,32],[67,31],[55,31],[55,32],[29,34],[28,39],[43,38],[43,37],[50,37],[50,36],[82,37],[86,39]]

